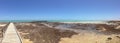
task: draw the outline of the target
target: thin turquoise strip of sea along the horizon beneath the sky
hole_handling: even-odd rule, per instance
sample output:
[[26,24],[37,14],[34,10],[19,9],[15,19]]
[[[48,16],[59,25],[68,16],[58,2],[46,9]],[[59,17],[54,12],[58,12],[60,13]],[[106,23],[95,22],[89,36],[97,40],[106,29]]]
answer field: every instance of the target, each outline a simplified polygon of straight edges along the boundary
[[102,20],[0,20],[0,22],[32,22],[32,21],[48,21],[48,22],[100,22]]

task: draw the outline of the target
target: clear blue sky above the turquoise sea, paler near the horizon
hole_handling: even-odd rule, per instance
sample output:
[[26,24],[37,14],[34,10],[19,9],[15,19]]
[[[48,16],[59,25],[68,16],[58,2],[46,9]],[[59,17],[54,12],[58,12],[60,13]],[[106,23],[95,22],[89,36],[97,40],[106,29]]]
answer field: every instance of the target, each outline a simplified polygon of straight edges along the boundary
[[120,0],[0,0],[0,20],[119,20]]

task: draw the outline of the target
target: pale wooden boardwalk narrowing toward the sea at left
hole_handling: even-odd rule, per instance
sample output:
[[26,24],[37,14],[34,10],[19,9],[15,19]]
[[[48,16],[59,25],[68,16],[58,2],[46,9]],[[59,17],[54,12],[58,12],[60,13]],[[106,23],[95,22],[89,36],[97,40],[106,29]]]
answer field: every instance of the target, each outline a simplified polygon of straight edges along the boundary
[[21,38],[17,33],[16,27],[13,23],[10,23],[8,25],[2,43],[22,43]]

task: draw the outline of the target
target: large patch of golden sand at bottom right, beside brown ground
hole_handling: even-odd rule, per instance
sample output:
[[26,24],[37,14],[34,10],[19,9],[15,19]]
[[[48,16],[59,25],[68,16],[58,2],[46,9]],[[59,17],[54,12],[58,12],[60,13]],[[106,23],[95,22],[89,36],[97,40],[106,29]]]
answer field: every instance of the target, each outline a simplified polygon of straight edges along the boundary
[[59,43],[120,43],[120,35],[79,33],[71,38],[61,38]]

